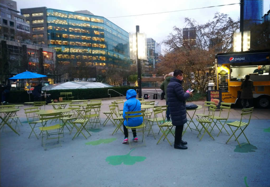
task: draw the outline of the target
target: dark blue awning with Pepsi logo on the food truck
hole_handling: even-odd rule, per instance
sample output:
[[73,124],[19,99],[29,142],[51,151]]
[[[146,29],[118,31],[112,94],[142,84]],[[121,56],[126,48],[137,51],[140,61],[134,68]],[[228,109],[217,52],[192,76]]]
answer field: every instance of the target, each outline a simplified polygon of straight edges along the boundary
[[218,64],[228,64],[237,66],[239,63],[243,66],[249,65],[269,65],[270,63],[270,49],[256,50],[256,51],[243,51],[232,53],[218,53],[215,55]]

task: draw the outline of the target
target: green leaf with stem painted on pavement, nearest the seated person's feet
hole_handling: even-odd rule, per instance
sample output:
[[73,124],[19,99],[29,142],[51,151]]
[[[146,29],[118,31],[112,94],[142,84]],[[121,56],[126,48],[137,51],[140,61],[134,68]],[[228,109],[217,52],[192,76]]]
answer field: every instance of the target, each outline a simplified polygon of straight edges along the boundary
[[[132,149],[131,151],[133,151]],[[130,152],[131,152],[130,151]],[[106,158],[106,162],[109,162],[110,165],[133,165],[136,162],[142,162],[146,159],[144,156],[130,156],[130,152],[126,155],[115,155],[115,156],[108,156]]]

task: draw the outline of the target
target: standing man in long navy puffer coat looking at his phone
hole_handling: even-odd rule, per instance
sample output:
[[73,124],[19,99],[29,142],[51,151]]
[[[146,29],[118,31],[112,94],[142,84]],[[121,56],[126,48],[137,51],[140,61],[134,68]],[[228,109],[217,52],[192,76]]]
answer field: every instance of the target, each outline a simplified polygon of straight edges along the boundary
[[175,127],[174,148],[187,149],[186,141],[182,140],[184,124],[187,122],[186,99],[191,96],[191,92],[184,92],[183,72],[179,69],[174,70],[173,77],[167,86],[168,107],[170,110],[171,121]]

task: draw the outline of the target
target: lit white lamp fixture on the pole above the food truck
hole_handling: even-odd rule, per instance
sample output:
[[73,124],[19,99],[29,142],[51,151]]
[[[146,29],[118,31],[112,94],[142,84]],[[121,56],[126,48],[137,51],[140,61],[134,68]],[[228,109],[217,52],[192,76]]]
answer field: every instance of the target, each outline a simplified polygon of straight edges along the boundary
[[[244,31],[243,33],[243,51],[248,51],[250,48],[250,31]],[[234,33],[233,39],[233,52],[241,51],[241,32]]]

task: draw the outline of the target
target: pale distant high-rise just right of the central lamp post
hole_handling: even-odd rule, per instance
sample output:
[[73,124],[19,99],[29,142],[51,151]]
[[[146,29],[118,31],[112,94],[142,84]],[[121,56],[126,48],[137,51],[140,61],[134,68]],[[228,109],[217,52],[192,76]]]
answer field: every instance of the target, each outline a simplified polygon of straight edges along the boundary
[[161,55],[161,45],[153,38],[146,38],[146,42],[149,71],[153,71],[156,68],[156,64],[161,61],[159,59],[159,56]]

